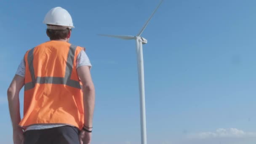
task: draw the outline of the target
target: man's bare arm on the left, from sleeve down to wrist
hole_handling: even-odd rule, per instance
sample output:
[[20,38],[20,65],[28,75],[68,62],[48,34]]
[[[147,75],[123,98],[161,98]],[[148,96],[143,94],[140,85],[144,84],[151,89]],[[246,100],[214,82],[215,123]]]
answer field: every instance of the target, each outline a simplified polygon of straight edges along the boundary
[[19,129],[19,122],[21,121],[19,109],[19,92],[24,85],[24,77],[15,75],[8,90],[8,104],[11,116],[13,130]]

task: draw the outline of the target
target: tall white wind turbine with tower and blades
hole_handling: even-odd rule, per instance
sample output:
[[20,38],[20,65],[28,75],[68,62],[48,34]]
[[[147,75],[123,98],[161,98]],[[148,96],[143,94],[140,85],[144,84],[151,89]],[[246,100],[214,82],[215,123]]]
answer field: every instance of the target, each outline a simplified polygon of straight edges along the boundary
[[143,51],[142,44],[146,44],[147,40],[144,37],[141,37],[142,32],[147,27],[149,21],[154,16],[155,12],[159,6],[163,3],[163,0],[159,3],[155,11],[149,17],[147,22],[142,27],[141,31],[136,36],[131,35],[103,35],[106,37],[116,37],[123,40],[136,40],[136,53],[137,53],[137,62],[138,62],[138,76],[139,76],[139,94],[140,94],[140,116],[141,116],[141,144],[147,144],[147,133],[146,133],[146,112],[145,112],[145,89],[144,89],[144,64],[143,64]]

